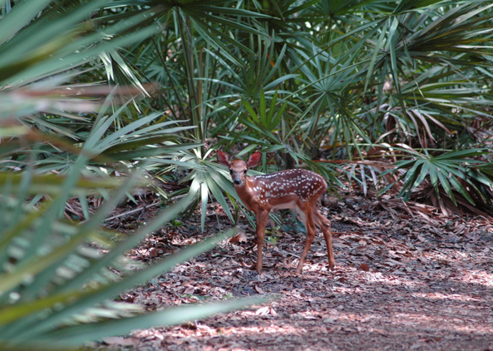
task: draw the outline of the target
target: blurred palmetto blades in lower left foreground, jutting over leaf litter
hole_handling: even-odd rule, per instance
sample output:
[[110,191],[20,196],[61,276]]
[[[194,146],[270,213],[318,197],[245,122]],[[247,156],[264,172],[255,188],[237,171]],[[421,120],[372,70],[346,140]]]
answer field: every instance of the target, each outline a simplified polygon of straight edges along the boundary
[[[84,157],[80,156],[71,171],[52,185],[54,189],[44,188],[52,200],[38,206],[27,201],[32,187],[42,187],[42,184],[36,184],[32,172],[23,173],[18,188],[11,187],[13,178],[8,176],[0,183],[0,340],[3,346],[73,347],[135,328],[180,323],[241,305],[236,301],[140,314],[134,306],[111,302],[109,299],[119,292],[211,249],[232,235],[232,230],[154,265],[129,272],[124,267],[122,255],[149,232],[182,212],[188,199],[169,207],[126,240],[108,246],[106,238],[110,233],[100,229],[99,224],[131,189],[137,177],[116,187],[101,208],[84,223],[68,222],[60,217],[63,213],[60,210],[77,183],[87,186],[88,180],[80,178],[84,163]],[[92,182],[93,186],[107,187],[105,182]],[[28,197],[23,198],[23,195]],[[88,241],[99,243],[108,252],[102,255],[97,246],[88,246]],[[108,269],[110,265],[126,272],[124,279],[116,279]]]

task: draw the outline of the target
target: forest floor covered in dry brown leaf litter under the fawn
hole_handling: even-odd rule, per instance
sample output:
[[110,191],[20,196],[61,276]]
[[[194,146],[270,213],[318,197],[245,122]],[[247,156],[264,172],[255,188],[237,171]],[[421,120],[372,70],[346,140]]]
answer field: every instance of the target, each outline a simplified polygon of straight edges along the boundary
[[[283,230],[282,237],[266,239],[264,270],[257,274],[251,270],[255,232],[243,218],[234,242],[224,241],[121,299],[149,311],[256,295],[272,299],[181,325],[135,330],[105,339],[101,347],[493,350],[492,223],[440,215],[390,197],[341,197],[327,197],[320,209],[332,221],[334,271],[328,271],[318,232],[302,274],[295,275],[305,237],[300,230]],[[155,211],[150,207],[119,217],[114,226],[131,229]],[[289,215],[285,222],[296,225]],[[208,210],[203,233],[200,213],[177,224],[149,236],[129,257],[151,262],[231,226],[217,204]]]

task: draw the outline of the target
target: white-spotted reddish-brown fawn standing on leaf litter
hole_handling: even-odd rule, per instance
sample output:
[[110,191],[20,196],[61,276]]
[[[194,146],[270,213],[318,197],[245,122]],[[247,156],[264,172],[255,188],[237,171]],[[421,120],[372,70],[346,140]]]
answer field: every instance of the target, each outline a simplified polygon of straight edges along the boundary
[[248,177],[247,171],[260,163],[259,152],[250,155],[247,162],[229,161],[222,151],[217,152],[219,164],[229,168],[234,188],[244,205],[255,213],[257,222],[257,272],[262,272],[262,244],[269,212],[274,208],[295,209],[306,228],[306,244],[301,254],[296,273],[300,274],[303,264],[315,238],[316,227],[320,227],[327,244],[328,268],[334,269],[336,261],[332,249],[331,222],[322,216],[317,205],[327,190],[323,177],[305,169],[290,169],[266,175]]

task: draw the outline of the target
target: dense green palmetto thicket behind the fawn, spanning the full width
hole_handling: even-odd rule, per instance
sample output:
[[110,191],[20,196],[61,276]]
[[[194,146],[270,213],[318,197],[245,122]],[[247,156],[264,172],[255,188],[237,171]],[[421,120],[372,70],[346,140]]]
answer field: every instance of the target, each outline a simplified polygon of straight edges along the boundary
[[[14,218],[29,217],[46,172],[71,179],[67,189],[84,202],[72,174],[103,176],[104,189],[114,170],[172,178],[180,169],[181,208],[201,202],[204,224],[212,196],[233,219],[222,190],[238,199],[211,162],[214,148],[242,156],[260,149],[264,172],[308,166],[333,184],[330,161],[340,170],[347,162],[347,174],[357,162],[363,186],[371,180],[388,190],[381,180],[395,171],[400,181],[392,184],[405,199],[491,204],[490,1],[0,6],[0,167],[19,173],[2,183],[3,208]],[[98,90],[103,81],[111,87]],[[51,193],[61,186],[50,186],[57,205],[49,213],[62,211]]]

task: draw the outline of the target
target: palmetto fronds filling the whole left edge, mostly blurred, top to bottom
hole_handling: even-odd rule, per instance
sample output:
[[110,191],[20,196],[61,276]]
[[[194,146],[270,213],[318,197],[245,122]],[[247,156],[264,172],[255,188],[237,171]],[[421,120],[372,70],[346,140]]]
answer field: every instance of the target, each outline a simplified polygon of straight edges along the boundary
[[[186,166],[176,160],[179,154],[200,146],[177,137],[195,128],[184,126],[188,121],[166,120],[158,110],[142,115],[133,109],[133,102],[141,103],[139,96],[122,106],[113,103],[114,95],[137,95],[144,85],[113,88],[94,80],[99,57],[156,32],[155,26],[143,26],[149,13],[94,30],[86,20],[97,10],[104,13],[106,2],[0,5],[2,348],[73,348],[107,335],[242,305],[238,301],[141,315],[138,308],[111,300],[232,233],[137,272],[126,271],[122,255],[183,212],[196,183],[189,195],[128,240],[111,244],[114,233],[100,227],[123,196],[147,183],[141,180],[146,168]],[[126,176],[110,177],[114,170]],[[86,197],[98,193],[105,202],[91,213]],[[74,196],[85,209],[83,222],[63,216],[67,199]],[[103,255],[95,247],[108,252]],[[124,278],[116,277],[109,266],[124,272]]]

